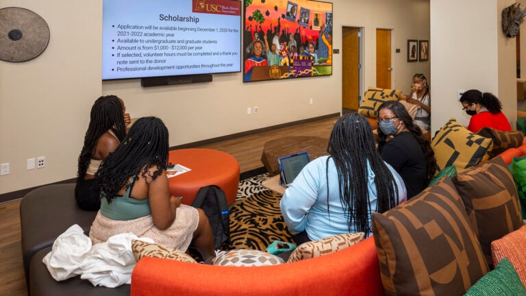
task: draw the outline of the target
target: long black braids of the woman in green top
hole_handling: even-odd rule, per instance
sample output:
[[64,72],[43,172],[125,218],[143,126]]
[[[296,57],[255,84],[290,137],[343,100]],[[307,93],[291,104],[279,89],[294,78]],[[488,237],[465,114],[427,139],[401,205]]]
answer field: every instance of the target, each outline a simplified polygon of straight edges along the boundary
[[[122,188],[129,186],[130,177],[138,175],[155,180],[166,169],[168,161],[168,129],[157,117],[142,117],[132,125],[121,145],[103,160],[95,180],[101,186],[101,197],[108,202]],[[149,169],[157,167],[150,175]]]

